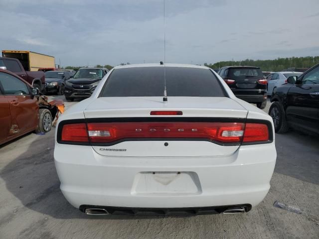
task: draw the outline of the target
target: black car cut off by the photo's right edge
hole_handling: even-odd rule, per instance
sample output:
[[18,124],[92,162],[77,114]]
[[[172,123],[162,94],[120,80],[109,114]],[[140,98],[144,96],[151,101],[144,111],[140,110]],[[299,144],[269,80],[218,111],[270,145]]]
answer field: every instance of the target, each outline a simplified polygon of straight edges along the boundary
[[277,87],[270,101],[269,115],[276,132],[292,127],[319,134],[319,64],[299,77],[288,77],[287,84]]

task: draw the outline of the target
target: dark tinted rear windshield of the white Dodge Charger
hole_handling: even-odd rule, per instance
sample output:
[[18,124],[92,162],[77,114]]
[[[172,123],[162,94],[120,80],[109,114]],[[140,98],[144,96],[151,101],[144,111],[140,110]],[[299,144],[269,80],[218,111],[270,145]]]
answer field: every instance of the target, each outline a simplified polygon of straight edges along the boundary
[[[208,69],[166,67],[167,96],[224,97],[215,75]],[[163,96],[163,67],[115,69],[105,83],[102,97]]]

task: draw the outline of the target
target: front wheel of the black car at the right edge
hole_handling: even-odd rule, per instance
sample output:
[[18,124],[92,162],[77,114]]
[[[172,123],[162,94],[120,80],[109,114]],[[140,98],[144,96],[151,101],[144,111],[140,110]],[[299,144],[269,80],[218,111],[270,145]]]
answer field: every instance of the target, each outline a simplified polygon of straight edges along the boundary
[[273,118],[276,133],[286,133],[289,130],[285,110],[282,104],[274,102],[270,106],[268,114]]

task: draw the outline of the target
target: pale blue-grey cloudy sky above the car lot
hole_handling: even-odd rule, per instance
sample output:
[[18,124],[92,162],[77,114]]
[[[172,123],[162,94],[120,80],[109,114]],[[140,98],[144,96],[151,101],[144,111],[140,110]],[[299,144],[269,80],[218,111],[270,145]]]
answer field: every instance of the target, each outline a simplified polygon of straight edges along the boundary
[[[166,62],[319,55],[319,0],[166,0]],[[163,0],[0,0],[0,48],[62,66],[163,60]]]

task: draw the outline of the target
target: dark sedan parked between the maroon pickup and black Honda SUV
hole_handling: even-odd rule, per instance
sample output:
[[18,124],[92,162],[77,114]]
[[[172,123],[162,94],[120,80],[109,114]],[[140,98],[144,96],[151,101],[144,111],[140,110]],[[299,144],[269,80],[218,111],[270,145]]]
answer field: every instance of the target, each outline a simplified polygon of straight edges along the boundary
[[69,80],[73,74],[69,71],[47,71],[45,72],[44,92],[64,95],[65,81]]

